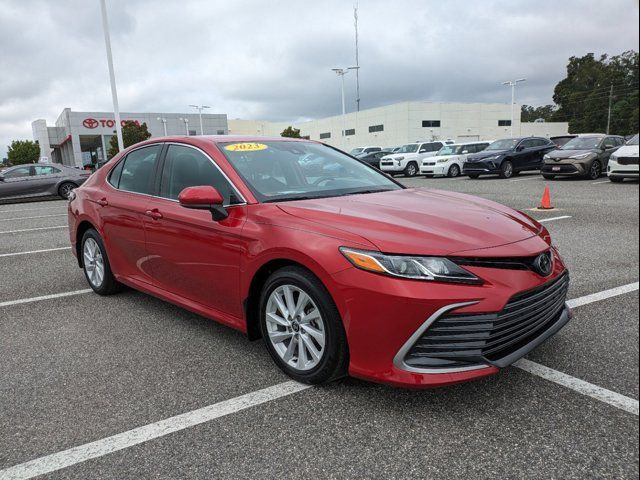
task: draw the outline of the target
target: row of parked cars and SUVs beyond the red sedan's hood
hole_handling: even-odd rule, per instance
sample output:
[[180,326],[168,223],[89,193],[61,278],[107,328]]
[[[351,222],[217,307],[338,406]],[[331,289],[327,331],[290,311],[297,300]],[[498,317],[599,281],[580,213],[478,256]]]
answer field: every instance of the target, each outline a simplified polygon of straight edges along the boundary
[[511,178],[524,171],[540,171],[549,180],[568,176],[595,180],[603,173],[612,182],[638,178],[638,135],[626,142],[624,137],[599,133],[550,139],[416,142],[393,149],[359,147],[351,154],[390,175],[408,177]]

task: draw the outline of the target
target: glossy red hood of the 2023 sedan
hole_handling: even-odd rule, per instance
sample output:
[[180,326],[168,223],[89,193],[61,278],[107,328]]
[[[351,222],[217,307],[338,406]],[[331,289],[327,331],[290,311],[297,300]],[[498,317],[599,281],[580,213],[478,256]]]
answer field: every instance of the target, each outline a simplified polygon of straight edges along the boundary
[[452,255],[538,235],[528,216],[469,195],[426,189],[300,200],[284,212],[358,235],[385,253]]

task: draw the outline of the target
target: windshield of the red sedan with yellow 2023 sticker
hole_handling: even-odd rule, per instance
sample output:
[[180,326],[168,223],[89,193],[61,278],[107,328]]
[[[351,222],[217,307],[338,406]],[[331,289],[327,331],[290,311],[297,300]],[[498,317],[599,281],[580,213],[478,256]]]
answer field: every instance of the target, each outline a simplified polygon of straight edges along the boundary
[[219,146],[260,202],[403,188],[372,167],[326,145],[275,140]]

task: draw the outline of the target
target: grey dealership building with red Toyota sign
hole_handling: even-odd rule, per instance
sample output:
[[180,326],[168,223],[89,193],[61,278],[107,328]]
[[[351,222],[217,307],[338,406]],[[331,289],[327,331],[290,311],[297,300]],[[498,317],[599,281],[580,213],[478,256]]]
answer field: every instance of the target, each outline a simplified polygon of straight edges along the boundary
[[[121,113],[120,119],[146,123],[152,137],[202,133],[197,113]],[[31,128],[33,139],[40,144],[41,161],[77,167],[104,162],[109,142],[115,136],[113,112],[74,112],[65,108],[55,126],[48,126],[46,120],[35,120]],[[227,116],[203,113],[202,129],[205,135],[226,135]]]

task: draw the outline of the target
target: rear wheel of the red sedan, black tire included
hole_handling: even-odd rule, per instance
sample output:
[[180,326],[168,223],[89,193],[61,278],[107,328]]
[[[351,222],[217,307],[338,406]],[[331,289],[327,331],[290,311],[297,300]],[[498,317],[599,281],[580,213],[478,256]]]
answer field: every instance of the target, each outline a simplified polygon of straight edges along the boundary
[[[82,270],[89,286],[98,295],[112,295],[122,290],[122,284],[116,280],[111,271],[107,250],[98,232],[90,228],[82,236],[80,243],[80,255],[82,256]],[[93,265],[91,265],[93,264]],[[97,275],[102,265],[102,278]],[[91,269],[90,267],[93,267]]]

